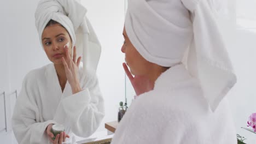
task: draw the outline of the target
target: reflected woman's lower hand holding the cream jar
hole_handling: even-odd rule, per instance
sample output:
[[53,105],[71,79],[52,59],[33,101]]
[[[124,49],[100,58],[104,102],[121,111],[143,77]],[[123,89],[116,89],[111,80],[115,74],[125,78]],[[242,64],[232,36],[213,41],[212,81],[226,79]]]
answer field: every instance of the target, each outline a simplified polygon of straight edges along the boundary
[[69,135],[67,135],[65,132],[61,133],[61,134],[57,134],[55,137],[55,140],[53,140],[54,134],[51,133],[51,127],[53,127],[53,124],[49,124],[46,128],[46,134],[48,136],[48,139],[51,143],[53,144],[61,144],[62,142],[66,141],[66,137],[69,138]]

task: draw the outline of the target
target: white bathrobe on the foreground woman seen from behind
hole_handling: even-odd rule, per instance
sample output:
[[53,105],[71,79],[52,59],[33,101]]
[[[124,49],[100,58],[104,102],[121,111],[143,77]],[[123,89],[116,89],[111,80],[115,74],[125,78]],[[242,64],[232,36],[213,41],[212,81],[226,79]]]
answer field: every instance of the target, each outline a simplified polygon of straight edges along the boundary
[[226,98],[211,112],[198,82],[184,66],[165,71],[153,91],[139,95],[118,125],[113,144],[235,144]]

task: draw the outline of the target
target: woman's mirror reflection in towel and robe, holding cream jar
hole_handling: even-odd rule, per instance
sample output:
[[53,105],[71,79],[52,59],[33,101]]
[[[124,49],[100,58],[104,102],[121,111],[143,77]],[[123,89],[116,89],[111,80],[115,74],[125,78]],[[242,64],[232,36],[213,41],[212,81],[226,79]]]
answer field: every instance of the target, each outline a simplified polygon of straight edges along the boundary
[[[52,63],[30,71],[22,83],[13,115],[19,143],[62,143],[66,138],[72,142],[75,135],[88,137],[100,125],[104,117],[96,76],[100,44],[85,14],[76,1],[39,2],[36,27]],[[82,52],[83,65],[82,57],[77,59]],[[65,127],[55,140],[53,124]]]

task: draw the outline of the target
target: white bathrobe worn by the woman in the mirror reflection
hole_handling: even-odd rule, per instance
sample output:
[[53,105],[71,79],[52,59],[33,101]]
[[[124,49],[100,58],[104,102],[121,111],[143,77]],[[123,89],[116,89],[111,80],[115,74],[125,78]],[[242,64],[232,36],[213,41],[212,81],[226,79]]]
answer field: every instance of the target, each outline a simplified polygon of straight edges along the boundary
[[54,64],[26,75],[13,115],[19,143],[48,143],[45,129],[50,123],[65,125],[69,136],[87,137],[94,133],[104,116],[103,98],[96,75],[82,75],[82,71],[80,67],[83,91],[76,94],[72,94],[68,81],[62,93]]

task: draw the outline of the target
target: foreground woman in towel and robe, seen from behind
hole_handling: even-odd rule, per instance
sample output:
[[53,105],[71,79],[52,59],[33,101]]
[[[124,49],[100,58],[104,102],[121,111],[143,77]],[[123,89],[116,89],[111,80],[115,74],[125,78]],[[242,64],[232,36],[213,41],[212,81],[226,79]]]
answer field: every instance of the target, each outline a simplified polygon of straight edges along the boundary
[[225,98],[236,76],[213,2],[129,0],[121,51],[138,97],[113,144],[237,143]]

